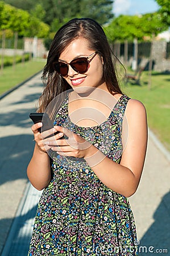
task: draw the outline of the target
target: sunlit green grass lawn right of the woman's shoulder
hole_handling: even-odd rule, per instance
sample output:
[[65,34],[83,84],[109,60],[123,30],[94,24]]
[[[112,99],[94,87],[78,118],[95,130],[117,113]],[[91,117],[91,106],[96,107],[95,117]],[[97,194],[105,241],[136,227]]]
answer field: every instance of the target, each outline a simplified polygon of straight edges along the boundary
[[157,138],[170,150],[170,75],[152,72],[151,89],[148,89],[148,72],[141,77],[141,86],[130,82],[124,92],[146,106],[148,126]]

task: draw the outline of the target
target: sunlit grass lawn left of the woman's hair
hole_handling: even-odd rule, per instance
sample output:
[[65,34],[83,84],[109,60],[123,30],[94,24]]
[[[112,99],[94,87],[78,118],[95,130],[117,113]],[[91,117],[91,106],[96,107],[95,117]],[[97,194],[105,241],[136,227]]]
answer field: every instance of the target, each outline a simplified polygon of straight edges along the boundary
[[45,60],[31,60],[18,63],[15,67],[5,67],[0,73],[0,94],[20,84],[28,77],[43,69]]

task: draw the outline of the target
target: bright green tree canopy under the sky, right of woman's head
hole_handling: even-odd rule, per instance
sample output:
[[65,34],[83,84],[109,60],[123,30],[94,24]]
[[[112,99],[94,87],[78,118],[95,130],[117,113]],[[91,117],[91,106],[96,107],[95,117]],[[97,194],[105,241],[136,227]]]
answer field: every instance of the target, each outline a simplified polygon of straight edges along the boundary
[[132,41],[134,38],[143,40],[145,36],[157,35],[167,29],[159,13],[144,15],[120,15],[105,27],[107,37],[111,42],[119,40]]

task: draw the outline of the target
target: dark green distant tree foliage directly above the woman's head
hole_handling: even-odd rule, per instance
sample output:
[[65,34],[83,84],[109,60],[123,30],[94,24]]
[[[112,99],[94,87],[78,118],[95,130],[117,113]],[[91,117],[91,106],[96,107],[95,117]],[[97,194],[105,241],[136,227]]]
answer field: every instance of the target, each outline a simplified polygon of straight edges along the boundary
[[5,0],[5,2],[28,10],[49,26],[55,19],[63,24],[66,18],[88,17],[105,24],[113,18],[113,0],[36,0],[36,5],[34,0]]

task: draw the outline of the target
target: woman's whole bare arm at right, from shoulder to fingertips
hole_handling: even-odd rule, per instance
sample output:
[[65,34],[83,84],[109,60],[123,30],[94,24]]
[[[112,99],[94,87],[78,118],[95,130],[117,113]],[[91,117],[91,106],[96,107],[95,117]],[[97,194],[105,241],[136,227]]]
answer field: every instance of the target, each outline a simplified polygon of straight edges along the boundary
[[[127,135],[127,140],[123,142],[125,149],[120,164],[107,158],[98,148],[85,141],[80,135],[73,134],[72,131],[60,126],[56,126],[55,129],[63,132],[69,139],[57,140],[58,146],[52,147],[52,150],[57,151],[60,155],[84,158],[103,184],[113,191],[129,197],[138,188],[146,155],[146,109],[140,101],[131,99],[127,103],[125,116],[128,131],[125,129],[123,121],[122,138]],[[48,139],[47,144],[54,145],[55,142],[50,142]]]

